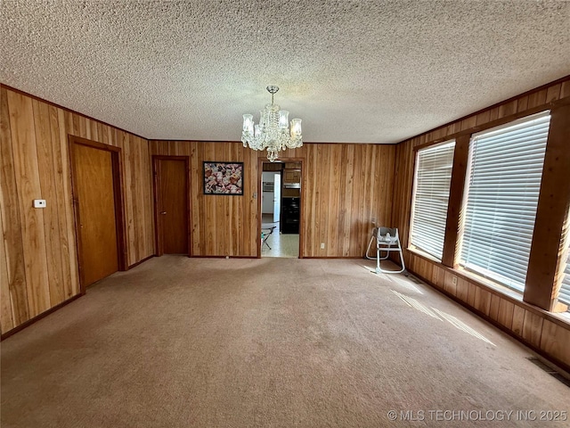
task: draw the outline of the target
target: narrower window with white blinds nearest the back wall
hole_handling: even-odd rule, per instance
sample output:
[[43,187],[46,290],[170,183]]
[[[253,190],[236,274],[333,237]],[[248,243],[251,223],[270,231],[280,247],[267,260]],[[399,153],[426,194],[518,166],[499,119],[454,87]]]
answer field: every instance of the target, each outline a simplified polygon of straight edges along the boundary
[[411,202],[410,243],[442,258],[455,141],[418,151]]

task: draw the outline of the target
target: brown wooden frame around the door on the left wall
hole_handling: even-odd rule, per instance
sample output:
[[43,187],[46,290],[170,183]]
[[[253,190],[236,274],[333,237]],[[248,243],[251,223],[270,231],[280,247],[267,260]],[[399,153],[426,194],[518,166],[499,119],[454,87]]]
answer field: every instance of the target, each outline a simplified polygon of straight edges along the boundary
[[77,170],[76,170],[76,154],[75,147],[77,145],[85,145],[96,150],[110,152],[111,174],[113,176],[113,193],[115,202],[115,227],[117,231],[117,261],[118,270],[125,271],[126,266],[126,226],[125,226],[125,206],[123,201],[123,165],[122,165],[122,149],[114,145],[103,144],[93,140],[87,140],[79,136],[68,136],[69,144],[69,162],[71,172],[71,197],[73,202],[73,212],[75,221],[75,237],[77,246],[77,268],[79,270],[79,290],[85,294],[85,268],[83,267],[83,254],[81,245],[81,233],[79,230],[79,201],[77,196]]

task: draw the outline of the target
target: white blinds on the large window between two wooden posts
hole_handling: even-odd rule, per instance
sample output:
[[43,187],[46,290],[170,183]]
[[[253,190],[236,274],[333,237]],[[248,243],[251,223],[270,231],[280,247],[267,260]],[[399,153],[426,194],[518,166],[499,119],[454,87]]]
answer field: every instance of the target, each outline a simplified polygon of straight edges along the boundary
[[546,111],[474,134],[460,264],[520,292],[549,133]]

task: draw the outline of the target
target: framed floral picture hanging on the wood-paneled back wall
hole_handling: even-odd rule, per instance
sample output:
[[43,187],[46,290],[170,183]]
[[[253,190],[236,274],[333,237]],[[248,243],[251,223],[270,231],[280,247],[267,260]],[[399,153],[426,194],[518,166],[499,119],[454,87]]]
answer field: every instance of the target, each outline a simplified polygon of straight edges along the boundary
[[204,194],[243,195],[243,162],[204,162]]

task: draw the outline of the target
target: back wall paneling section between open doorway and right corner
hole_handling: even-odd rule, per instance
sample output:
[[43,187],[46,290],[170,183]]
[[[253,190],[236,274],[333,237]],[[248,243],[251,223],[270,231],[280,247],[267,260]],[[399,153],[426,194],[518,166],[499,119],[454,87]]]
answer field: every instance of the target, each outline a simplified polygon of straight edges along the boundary
[[305,144],[304,149],[303,255],[362,257],[372,219],[390,226],[395,146]]

